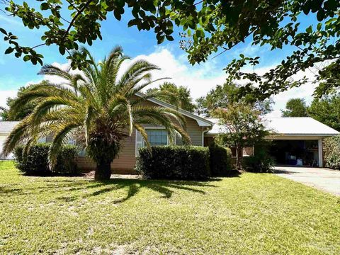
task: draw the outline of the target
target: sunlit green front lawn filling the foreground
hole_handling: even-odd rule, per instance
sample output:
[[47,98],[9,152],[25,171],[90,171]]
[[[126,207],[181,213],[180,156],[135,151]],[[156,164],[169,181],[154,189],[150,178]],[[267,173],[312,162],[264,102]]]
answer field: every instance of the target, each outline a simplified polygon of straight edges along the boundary
[[22,176],[0,162],[0,254],[340,254],[339,198],[273,174]]

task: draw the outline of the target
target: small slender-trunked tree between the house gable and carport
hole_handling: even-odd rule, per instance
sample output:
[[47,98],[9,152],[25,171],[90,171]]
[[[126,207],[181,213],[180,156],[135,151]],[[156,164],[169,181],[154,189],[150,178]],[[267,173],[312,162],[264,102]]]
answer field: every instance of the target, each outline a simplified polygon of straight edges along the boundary
[[217,144],[236,149],[237,168],[241,168],[241,154],[244,147],[254,146],[268,135],[261,111],[246,103],[230,103],[226,108],[217,108],[212,115],[219,118],[222,132],[216,137]]

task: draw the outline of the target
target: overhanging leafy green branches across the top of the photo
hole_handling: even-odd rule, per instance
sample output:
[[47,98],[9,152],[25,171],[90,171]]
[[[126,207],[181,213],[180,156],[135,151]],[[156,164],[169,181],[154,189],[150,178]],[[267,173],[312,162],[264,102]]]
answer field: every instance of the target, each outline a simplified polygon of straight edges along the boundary
[[[120,21],[128,11],[132,19],[128,26],[139,30],[154,30],[157,42],[174,40],[174,26],[183,28],[181,47],[188,52],[191,64],[205,62],[212,53],[231,50],[249,39],[252,45],[270,50],[293,48],[273,69],[265,74],[244,72],[244,67],[256,67],[260,57],[239,55],[225,71],[229,81],[248,79],[241,94],[254,93],[257,98],[268,98],[292,86],[306,82],[320,82],[315,94],[322,96],[339,86],[340,76],[340,1],[338,0],[36,0],[30,4],[16,4],[0,0],[6,12],[21,18],[29,29],[41,28],[41,44],[23,46],[18,37],[1,28],[9,43],[6,53],[22,57],[33,64],[42,64],[42,55],[35,48],[57,45],[62,55],[77,50],[79,44],[91,45],[101,39],[101,21],[113,13]],[[38,7],[38,8],[35,8]],[[317,26],[300,21],[310,15]],[[86,66],[86,55],[69,55],[73,68]],[[265,60],[264,60],[265,61]],[[294,80],[293,75],[322,64],[314,79]],[[257,84],[259,86],[251,86]]]

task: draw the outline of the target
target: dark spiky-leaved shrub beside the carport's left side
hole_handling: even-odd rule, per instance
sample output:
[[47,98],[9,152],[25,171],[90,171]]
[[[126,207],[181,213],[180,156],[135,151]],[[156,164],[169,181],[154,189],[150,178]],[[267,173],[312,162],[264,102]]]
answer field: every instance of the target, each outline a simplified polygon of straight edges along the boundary
[[254,147],[254,155],[244,157],[242,160],[243,169],[246,171],[268,173],[273,172],[274,160],[268,153],[268,142]]

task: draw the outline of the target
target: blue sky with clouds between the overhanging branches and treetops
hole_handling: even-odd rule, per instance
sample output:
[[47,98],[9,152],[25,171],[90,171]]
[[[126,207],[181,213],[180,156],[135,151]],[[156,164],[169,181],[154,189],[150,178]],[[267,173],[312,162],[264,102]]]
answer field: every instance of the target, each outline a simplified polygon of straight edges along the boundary
[[[122,45],[126,55],[132,58],[145,58],[150,62],[158,64],[163,72],[155,74],[155,77],[166,75],[173,78],[177,85],[188,86],[191,89],[194,98],[204,96],[210,89],[217,84],[222,84],[225,80],[225,73],[222,69],[230,60],[239,54],[261,57],[261,66],[259,72],[273,67],[280,62],[282,58],[290,52],[290,48],[284,50],[276,50],[271,52],[268,47],[254,47],[250,42],[237,45],[234,49],[226,52],[220,57],[216,57],[205,64],[196,64],[194,67],[188,64],[186,53],[179,48],[180,37],[179,30],[174,33],[175,40],[173,42],[164,42],[157,45],[155,34],[150,31],[138,31],[137,28],[128,28],[130,15],[126,13],[122,21],[116,21],[112,14],[108,14],[108,20],[102,23],[103,40],[97,40],[89,47],[97,60],[103,58],[104,55],[112,49],[114,45]],[[304,27],[310,26],[312,17],[302,18]],[[0,13],[0,24],[6,30],[18,35],[19,42],[22,45],[34,46],[40,43],[41,30],[28,30],[24,28],[20,20],[5,16]],[[14,55],[4,55],[4,50],[8,45],[4,41],[0,41],[0,106],[3,106],[7,96],[16,94],[16,90],[28,83],[38,82],[44,77],[40,77],[37,73],[40,65],[33,66],[30,62],[23,62]],[[44,63],[67,64],[66,55],[60,55],[57,47],[39,47],[38,52],[44,55]],[[288,98],[296,96],[305,96],[310,101],[311,88],[300,88],[293,91],[285,92],[276,96],[276,113],[283,108]]]

